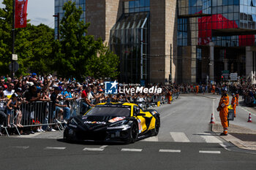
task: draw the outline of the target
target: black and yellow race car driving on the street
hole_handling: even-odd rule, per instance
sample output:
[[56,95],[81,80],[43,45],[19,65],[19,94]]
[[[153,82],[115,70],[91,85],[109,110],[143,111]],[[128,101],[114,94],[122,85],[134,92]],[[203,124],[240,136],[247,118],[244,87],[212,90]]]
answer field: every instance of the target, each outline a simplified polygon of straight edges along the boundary
[[64,140],[133,143],[148,136],[157,136],[159,113],[143,111],[137,104],[97,104],[83,116],[70,117]]

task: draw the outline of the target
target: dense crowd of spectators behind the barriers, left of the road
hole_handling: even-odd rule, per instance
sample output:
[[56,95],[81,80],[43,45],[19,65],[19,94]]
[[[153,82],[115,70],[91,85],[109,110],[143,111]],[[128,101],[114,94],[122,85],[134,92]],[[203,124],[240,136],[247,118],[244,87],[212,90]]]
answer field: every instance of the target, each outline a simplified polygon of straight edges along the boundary
[[[118,93],[105,94],[105,80],[86,77],[84,82],[75,78],[62,79],[48,75],[32,73],[25,77],[0,77],[0,125],[1,128],[23,128],[24,124],[67,123],[70,116],[86,112],[95,104],[102,102],[156,102],[166,101],[170,104],[173,93],[178,93],[176,85],[147,85],[162,88],[162,93]],[[129,86],[129,88],[132,88]],[[38,104],[43,101],[49,104]],[[51,102],[50,102],[51,101]],[[77,112],[73,103],[79,103]],[[80,101],[80,102],[79,102]],[[33,111],[40,108],[41,117]],[[15,117],[15,119],[13,118]],[[34,131],[56,131],[54,125],[30,128]],[[1,129],[0,129],[1,133]]]

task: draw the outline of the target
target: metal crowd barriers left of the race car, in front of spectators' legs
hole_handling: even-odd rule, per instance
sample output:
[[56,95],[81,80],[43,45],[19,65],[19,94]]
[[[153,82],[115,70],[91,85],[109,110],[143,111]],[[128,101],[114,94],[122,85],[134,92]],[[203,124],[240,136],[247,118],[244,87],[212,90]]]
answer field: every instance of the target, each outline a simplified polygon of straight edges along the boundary
[[[12,109],[10,112],[10,127],[8,127],[8,115],[7,115],[7,107],[5,105],[5,114],[7,115],[6,123],[4,123],[4,129],[9,136],[8,129],[15,128],[20,135],[20,127],[18,127],[18,119],[20,117],[20,125],[23,128],[26,127],[39,127],[39,126],[48,126],[48,125],[56,125],[59,131],[63,127],[64,117],[70,117],[76,115],[77,112],[80,112],[80,107],[78,106],[78,101],[60,101],[59,104],[67,104],[69,106],[70,112],[65,112],[66,108],[60,108],[63,110],[59,121],[55,121],[56,116],[58,116],[60,109],[54,110],[52,101],[34,101],[29,102],[28,104],[21,104],[18,109]],[[20,115],[21,113],[21,115]],[[66,115],[65,115],[66,114]]]

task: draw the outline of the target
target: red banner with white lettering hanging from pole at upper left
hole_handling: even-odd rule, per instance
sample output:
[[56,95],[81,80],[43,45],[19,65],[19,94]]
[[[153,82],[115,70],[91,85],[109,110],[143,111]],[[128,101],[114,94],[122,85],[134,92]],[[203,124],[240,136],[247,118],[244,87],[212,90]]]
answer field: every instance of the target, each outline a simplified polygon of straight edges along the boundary
[[15,28],[26,27],[28,0],[15,0]]

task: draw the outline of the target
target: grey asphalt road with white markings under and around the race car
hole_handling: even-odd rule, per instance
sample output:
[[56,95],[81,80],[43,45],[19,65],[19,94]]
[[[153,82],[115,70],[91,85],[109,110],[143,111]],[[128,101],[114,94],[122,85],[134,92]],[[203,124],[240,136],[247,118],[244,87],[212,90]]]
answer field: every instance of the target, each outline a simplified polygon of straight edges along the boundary
[[[255,169],[256,154],[237,150],[211,133],[214,98],[181,96],[157,108],[159,135],[135,144],[69,144],[59,139],[59,132],[43,134],[46,139],[4,136],[0,169]],[[241,111],[239,120],[246,114]]]

